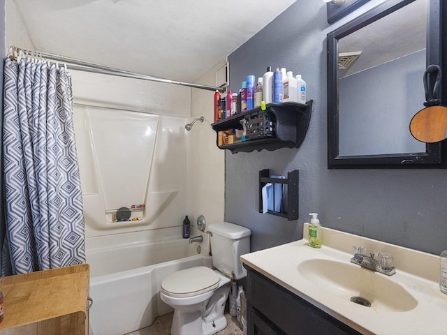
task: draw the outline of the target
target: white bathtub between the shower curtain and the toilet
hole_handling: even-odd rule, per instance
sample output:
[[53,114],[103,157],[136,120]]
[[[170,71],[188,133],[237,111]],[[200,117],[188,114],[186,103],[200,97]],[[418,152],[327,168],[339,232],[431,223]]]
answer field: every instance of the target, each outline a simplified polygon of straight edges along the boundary
[[[86,241],[89,295],[94,300],[89,334],[122,335],[152,325],[157,316],[173,311],[159,297],[164,277],[189,267],[212,266],[207,234],[203,234],[203,242],[189,244],[188,239],[169,237],[172,228],[166,229],[156,232],[158,236],[150,243],[146,238],[126,241],[119,235],[118,244],[103,240],[102,245],[89,246]],[[191,230],[191,236],[198,234]]]

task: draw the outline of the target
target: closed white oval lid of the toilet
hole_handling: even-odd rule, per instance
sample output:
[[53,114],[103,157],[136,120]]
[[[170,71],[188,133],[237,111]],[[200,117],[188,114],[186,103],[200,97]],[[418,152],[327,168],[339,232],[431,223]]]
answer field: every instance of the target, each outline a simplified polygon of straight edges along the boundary
[[220,278],[209,267],[191,267],[166,276],[161,289],[171,297],[192,297],[214,290]]

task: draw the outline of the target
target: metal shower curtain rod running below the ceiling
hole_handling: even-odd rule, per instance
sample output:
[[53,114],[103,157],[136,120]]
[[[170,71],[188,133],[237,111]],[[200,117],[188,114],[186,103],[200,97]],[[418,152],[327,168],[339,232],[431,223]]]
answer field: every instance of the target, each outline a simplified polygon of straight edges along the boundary
[[[15,52],[20,52],[24,54],[24,57],[34,57],[34,58],[41,58],[41,59],[50,59],[51,61],[61,61],[62,63],[66,64],[66,67],[71,70],[78,70],[78,71],[85,71],[85,72],[91,72],[91,73],[100,73],[103,75],[116,75],[118,77],[128,77],[133,79],[141,79],[141,80],[149,80],[152,82],[164,82],[166,84],[175,84],[175,85],[182,85],[187,87],[193,87],[194,89],[206,89],[208,91],[225,91],[225,88],[223,87],[214,87],[209,85],[203,85],[203,84],[193,84],[191,82],[179,82],[177,80],[170,80],[160,77],[153,77],[151,75],[142,75],[140,73],[133,73],[130,71],[122,70],[119,68],[112,68],[110,66],[105,66],[101,64],[95,64],[90,63],[88,61],[81,61],[79,59],[73,59],[70,57],[64,57],[59,56],[57,54],[50,54],[47,52],[41,52],[36,50],[27,50],[22,49],[21,47],[13,47],[11,46]],[[14,55],[15,58],[17,58]]]

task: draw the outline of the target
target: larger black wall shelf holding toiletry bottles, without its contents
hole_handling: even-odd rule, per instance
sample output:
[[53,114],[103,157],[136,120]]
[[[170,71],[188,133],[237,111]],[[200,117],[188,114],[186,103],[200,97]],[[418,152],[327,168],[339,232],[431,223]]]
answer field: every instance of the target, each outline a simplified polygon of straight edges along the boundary
[[239,151],[250,152],[262,149],[272,151],[279,148],[298,148],[305,139],[307,128],[309,128],[313,103],[313,100],[307,101],[305,105],[302,103],[268,103],[265,110],[270,112],[276,120],[274,137],[219,146],[219,131],[242,129],[240,121],[251,115],[258,114],[261,111],[261,107],[217,121],[211,125],[217,133],[216,143],[220,149],[228,149],[233,154]]

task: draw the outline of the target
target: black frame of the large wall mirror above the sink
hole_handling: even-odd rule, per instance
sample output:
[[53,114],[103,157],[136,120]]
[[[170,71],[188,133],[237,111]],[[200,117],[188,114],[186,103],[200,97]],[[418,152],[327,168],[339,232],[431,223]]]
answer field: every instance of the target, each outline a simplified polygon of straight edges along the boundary
[[[446,140],[426,144],[425,152],[420,153],[339,156],[338,40],[413,1],[415,0],[386,1],[328,34],[328,169],[447,168]],[[430,5],[427,8],[427,66],[437,64],[443,69],[444,75],[442,76],[440,91],[441,101],[445,105],[447,103],[447,90],[443,90],[442,87],[447,87],[447,75],[446,70],[444,70],[447,66],[447,43],[443,43],[441,36],[447,36],[447,10],[444,10],[447,1],[428,1],[430,1]],[[423,84],[422,77],[420,78],[420,84]],[[420,102],[420,106],[422,109],[423,101]]]

